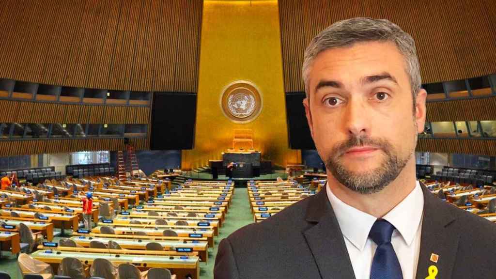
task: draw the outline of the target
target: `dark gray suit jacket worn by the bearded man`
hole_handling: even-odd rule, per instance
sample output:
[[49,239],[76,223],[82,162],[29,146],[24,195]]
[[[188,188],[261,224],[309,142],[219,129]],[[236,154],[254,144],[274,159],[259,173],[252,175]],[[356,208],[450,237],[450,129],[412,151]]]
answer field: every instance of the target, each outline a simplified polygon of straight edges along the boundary
[[[424,216],[416,278],[425,279],[431,265],[437,267],[436,279],[496,278],[496,225],[439,200],[424,186],[422,190]],[[439,255],[437,263],[431,262],[432,253]],[[214,278],[354,279],[326,191],[223,239]]]

